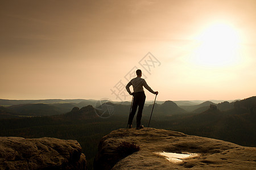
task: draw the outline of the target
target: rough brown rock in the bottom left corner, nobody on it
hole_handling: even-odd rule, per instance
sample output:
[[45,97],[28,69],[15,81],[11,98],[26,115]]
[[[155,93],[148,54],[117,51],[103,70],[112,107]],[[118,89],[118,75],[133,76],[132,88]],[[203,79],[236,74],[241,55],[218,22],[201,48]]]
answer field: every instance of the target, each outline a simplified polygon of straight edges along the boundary
[[0,169],[86,169],[77,141],[0,137]]

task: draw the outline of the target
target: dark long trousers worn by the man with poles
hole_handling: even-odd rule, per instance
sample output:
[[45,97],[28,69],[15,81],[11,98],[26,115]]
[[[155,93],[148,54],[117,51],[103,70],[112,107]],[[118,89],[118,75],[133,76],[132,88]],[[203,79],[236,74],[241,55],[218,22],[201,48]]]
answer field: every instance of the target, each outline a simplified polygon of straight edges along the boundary
[[143,91],[141,92],[134,92],[133,93],[133,107],[131,108],[131,113],[129,115],[128,124],[133,124],[133,118],[137,111],[137,107],[139,106],[139,110],[137,113],[137,126],[141,125],[141,117],[142,117],[142,111],[144,107],[144,103],[146,100],[146,95]]

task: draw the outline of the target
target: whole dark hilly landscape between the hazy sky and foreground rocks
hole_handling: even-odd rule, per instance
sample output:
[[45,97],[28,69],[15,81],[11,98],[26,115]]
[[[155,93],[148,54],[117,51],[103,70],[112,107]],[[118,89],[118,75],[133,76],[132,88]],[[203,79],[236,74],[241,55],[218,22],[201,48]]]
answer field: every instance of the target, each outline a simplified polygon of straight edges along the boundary
[[[97,100],[80,99],[1,99],[0,136],[77,140],[90,169],[100,139],[113,130],[126,128],[130,111],[129,101],[96,103]],[[152,104],[146,103],[142,116],[144,126],[148,125],[151,109]],[[150,127],[256,147],[255,121],[256,96],[221,103],[157,101]]]

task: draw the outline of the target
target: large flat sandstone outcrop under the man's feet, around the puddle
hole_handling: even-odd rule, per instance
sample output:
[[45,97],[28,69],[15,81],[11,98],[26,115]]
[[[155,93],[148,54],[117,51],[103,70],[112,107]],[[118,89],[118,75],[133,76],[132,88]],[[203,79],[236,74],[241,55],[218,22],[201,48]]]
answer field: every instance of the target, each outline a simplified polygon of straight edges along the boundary
[[[141,150],[119,160],[117,146],[126,141]],[[199,156],[181,163],[169,162],[155,152],[189,152]],[[94,169],[255,169],[256,148],[176,131],[143,128],[119,129],[103,137],[94,159]]]

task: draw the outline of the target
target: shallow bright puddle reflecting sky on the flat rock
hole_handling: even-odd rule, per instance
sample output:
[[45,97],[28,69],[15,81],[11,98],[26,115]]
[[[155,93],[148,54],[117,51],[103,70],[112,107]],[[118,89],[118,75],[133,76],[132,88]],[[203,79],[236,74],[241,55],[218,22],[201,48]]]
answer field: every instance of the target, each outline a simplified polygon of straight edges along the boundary
[[183,162],[183,159],[185,158],[193,158],[195,156],[199,156],[198,154],[193,154],[193,153],[176,154],[172,152],[155,152],[155,154],[162,155],[168,161],[173,163],[180,163],[180,162]]

